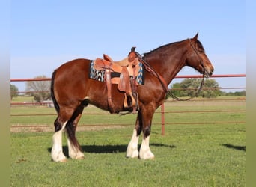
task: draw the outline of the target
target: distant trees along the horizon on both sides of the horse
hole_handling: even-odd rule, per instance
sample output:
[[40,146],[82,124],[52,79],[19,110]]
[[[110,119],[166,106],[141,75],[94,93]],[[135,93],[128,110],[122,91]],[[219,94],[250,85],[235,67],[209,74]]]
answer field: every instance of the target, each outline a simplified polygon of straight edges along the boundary
[[[46,78],[46,76],[37,76],[35,78]],[[214,98],[216,96],[246,96],[246,91],[236,91],[226,93],[221,91],[219,83],[215,79],[204,80],[204,88],[198,92],[198,88],[201,85],[201,79],[187,78],[183,79],[182,82],[174,83],[171,85],[171,92],[175,96],[201,96],[204,98]],[[27,96],[34,96],[36,102],[43,102],[44,100],[50,99],[50,81],[32,81],[26,82],[25,91]],[[18,88],[15,85],[10,85],[10,97],[18,96]],[[197,95],[196,95],[197,94]]]

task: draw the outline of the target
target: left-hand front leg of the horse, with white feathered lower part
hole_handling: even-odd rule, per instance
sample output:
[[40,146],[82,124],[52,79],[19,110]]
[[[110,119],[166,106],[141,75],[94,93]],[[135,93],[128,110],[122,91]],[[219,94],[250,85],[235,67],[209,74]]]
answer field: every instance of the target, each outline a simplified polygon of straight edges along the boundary
[[142,123],[141,114],[138,111],[138,117],[135,123],[135,129],[133,129],[132,139],[129,141],[127,147],[127,158],[138,158],[138,138],[141,134]]

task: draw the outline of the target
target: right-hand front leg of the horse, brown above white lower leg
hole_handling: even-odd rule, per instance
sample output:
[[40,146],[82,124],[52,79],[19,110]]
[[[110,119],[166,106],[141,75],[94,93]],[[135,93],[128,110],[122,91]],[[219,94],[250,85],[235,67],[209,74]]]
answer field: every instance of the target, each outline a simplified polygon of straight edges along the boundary
[[149,106],[142,111],[143,140],[139,150],[140,159],[153,159],[155,157],[150,150],[150,132],[154,111],[155,108],[153,106]]

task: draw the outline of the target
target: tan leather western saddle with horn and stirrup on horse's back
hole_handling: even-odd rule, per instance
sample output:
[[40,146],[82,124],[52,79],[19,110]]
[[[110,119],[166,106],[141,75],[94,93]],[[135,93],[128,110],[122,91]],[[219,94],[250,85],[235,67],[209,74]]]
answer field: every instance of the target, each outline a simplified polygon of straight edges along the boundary
[[[132,108],[133,114],[138,109],[138,83],[135,77],[138,76],[138,56],[135,47],[132,47],[127,58],[121,61],[113,61],[108,55],[94,61],[96,70],[103,70],[106,73],[105,82],[108,91],[108,104],[111,113],[115,113],[115,105],[112,102],[112,84],[118,84],[118,90],[124,92],[124,108]],[[120,73],[120,77],[113,77],[111,73]]]

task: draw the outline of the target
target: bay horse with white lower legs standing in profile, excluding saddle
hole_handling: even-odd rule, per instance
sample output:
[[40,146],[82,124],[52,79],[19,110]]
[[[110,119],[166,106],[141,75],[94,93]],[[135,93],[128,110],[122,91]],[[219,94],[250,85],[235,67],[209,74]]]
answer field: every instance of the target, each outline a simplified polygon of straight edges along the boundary
[[[213,65],[205,54],[204,47],[198,40],[198,33],[191,39],[168,43],[144,53],[143,61],[162,77],[169,85],[171,80],[185,66],[197,70],[204,76],[213,74]],[[67,132],[68,155],[72,159],[83,159],[84,153],[76,139],[76,127],[82,116],[83,109],[88,105],[109,111],[106,83],[90,79],[89,69],[91,60],[75,59],[62,64],[52,73],[51,95],[58,113],[55,133],[52,136],[52,160],[67,161],[62,150],[62,132]],[[153,114],[165,101],[166,89],[153,73],[144,71],[144,85],[138,85],[138,115],[135,121],[132,138],[127,146],[128,158],[153,159],[150,150],[150,131]],[[112,102],[115,111],[127,111],[124,108],[124,93],[112,85]],[[138,138],[143,132],[141,148],[138,151]]]

